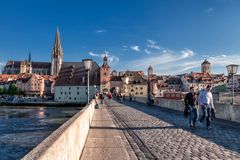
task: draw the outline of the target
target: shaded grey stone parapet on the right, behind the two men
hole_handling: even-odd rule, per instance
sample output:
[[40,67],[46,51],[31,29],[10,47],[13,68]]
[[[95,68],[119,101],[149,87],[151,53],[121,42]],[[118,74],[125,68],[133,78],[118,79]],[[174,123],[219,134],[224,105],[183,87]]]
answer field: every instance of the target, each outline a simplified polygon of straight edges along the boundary
[[[184,110],[184,102],[182,100],[173,100],[173,99],[165,99],[165,98],[155,98],[154,104],[173,109],[177,111]],[[214,103],[214,107],[216,109],[216,118],[230,120],[234,122],[240,122],[240,106],[239,105],[231,105],[226,103]]]

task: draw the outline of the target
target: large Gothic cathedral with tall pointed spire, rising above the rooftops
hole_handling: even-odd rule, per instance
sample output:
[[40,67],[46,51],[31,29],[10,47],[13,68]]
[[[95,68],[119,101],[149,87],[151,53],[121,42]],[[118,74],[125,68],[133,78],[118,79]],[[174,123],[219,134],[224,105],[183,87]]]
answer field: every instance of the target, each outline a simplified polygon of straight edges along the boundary
[[57,29],[55,42],[52,49],[51,62],[35,62],[29,57],[23,61],[9,60],[3,67],[2,74],[20,74],[33,73],[40,75],[54,75],[58,76],[63,63],[63,51],[61,47],[60,32]]

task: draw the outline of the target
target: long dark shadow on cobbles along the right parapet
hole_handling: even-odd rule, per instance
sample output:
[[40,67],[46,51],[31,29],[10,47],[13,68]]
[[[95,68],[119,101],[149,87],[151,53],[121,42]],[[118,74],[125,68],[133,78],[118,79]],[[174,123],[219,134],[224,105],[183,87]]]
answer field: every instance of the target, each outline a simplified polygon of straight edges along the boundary
[[[134,108],[136,110],[144,112],[145,114],[170,123],[174,125],[173,128],[181,128],[185,131],[195,134],[196,136],[202,137],[206,140],[223,146],[226,149],[240,153],[240,129],[238,127],[231,127],[229,125],[224,125],[223,123],[213,123],[213,129],[207,130],[205,128],[205,123],[203,123],[201,126],[197,125],[196,129],[191,130],[189,129],[189,120],[183,117],[182,112],[163,108],[160,106],[147,107],[146,104],[141,102],[116,102],[122,105],[127,105],[128,107]],[[232,124],[236,125],[239,123]]]

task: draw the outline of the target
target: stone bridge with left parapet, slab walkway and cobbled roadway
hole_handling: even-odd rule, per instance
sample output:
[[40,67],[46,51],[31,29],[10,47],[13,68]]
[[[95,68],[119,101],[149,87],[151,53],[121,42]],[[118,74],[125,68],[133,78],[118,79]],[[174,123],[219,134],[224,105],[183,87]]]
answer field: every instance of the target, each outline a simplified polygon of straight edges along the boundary
[[[86,111],[88,124],[77,124],[77,130],[68,131],[75,121],[82,121],[78,118]],[[202,123],[190,129],[182,112],[114,100],[99,109],[94,109],[92,101],[81,112],[71,124],[60,127],[61,133],[56,130],[23,159],[240,159],[237,122],[215,119],[211,130]]]

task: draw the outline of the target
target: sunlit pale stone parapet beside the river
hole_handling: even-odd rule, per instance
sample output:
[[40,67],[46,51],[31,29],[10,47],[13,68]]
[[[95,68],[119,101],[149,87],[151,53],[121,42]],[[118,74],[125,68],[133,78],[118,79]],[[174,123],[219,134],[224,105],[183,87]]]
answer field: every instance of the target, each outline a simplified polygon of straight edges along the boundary
[[80,159],[92,121],[94,106],[95,101],[93,100],[22,159]]

